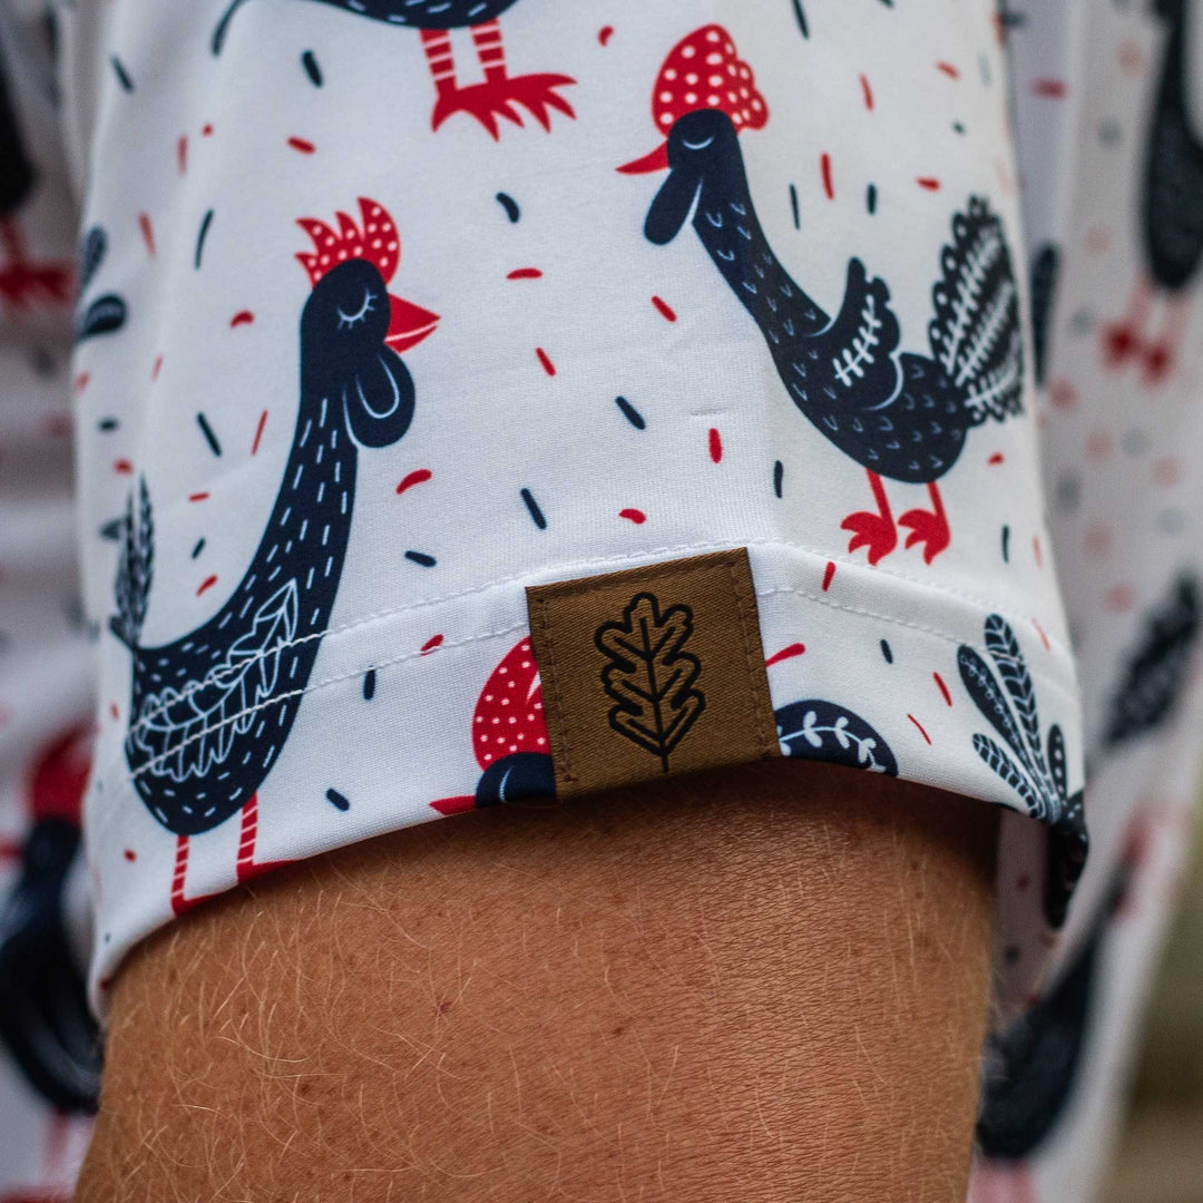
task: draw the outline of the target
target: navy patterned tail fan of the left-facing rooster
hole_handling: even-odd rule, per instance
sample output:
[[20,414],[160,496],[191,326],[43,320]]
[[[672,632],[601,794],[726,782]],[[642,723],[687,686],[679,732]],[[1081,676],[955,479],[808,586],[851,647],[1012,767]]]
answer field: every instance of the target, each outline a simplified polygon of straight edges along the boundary
[[953,218],[953,241],[940,265],[928,326],[932,358],[964,397],[971,425],[1020,413],[1019,289],[1002,221],[980,197],[970,197]]

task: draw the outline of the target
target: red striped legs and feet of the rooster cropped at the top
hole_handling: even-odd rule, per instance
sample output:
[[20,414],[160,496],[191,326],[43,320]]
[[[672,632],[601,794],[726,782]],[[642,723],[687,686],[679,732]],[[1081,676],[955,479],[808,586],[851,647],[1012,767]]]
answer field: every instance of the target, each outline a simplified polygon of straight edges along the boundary
[[515,125],[522,124],[522,117],[515,105],[528,109],[545,130],[551,129],[553,108],[568,117],[575,117],[573,106],[556,91],[557,88],[575,83],[575,79],[546,73],[510,78],[505,70],[502,26],[496,20],[473,25],[472,41],[476,47],[476,57],[484,67],[485,78],[481,83],[461,88],[455,78],[450,32],[442,29],[422,30],[426,61],[438,88],[438,100],[431,118],[433,129],[437,130],[452,113],[470,113],[496,140],[500,137],[498,117],[504,117]]

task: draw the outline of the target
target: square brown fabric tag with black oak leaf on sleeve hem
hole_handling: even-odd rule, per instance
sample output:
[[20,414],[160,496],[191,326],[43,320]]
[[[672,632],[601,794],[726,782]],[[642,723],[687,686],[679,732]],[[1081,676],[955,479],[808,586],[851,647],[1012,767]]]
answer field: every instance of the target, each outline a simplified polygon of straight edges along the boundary
[[747,549],[527,589],[556,794],[780,755]]

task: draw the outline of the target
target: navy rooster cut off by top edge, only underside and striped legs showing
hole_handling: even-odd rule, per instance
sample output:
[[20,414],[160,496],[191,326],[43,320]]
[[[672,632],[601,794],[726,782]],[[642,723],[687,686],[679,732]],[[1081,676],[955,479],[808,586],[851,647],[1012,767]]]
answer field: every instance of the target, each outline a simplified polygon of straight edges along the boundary
[[[213,53],[220,54],[230,28],[230,18],[244,0],[231,0],[213,31]],[[556,90],[576,81],[564,75],[510,76],[505,69],[502,26],[497,18],[517,0],[321,0],[345,12],[390,25],[407,25],[422,34],[426,63],[438,89],[431,125],[438,129],[452,113],[470,113],[497,138],[497,118],[522,124],[521,105],[545,129],[551,129],[551,109],[575,117],[573,106]],[[455,55],[450,30],[472,30],[476,57],[485,71],[481,83],[460,87],[456,83]]]

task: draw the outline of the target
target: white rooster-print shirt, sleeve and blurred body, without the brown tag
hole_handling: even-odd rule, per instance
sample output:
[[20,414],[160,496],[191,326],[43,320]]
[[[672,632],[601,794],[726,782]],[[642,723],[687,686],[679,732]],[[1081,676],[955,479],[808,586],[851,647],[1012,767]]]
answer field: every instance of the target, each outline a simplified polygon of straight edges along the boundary
[[552,805],[527,588],[743,547],[776,751],[1003,808],[974,1197],[1086,1199],[1203,724],[1192,0],[31,7],[0,1199],[85,1139],[81,900],[103,1012],[239,881]]

